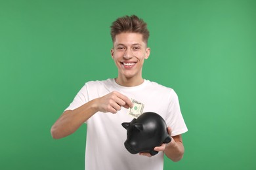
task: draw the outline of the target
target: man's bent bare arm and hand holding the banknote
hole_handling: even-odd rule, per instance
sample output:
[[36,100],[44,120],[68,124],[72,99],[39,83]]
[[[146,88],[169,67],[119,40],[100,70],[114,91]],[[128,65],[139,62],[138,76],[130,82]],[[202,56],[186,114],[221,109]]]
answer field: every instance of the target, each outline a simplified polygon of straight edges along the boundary
[[93,99],[74,110],[66,110],[51,127],[54,139],[60,139],[74,133],[96,112],[116,113],[121,107],[133,107],[130,99],[118,92],[111,92]]

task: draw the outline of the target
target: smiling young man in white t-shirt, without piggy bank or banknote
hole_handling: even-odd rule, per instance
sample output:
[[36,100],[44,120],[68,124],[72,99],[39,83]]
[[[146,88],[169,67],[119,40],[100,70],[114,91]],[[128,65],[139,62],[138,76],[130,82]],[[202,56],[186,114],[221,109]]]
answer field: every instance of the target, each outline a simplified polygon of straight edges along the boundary
[[[137,16],[117,18],[111,26],[111,56],[118,69],[117,78],[87,82],[51,129],[54,139],[66,137],[87,123],[85,169],[163,169],[163,154],[173,161],[184,154],[181,134],[187,131],[173,89],[142,78],[144,59],[150,56],[149,31]],[[133,119],[131,97],[144,103],[143,112],[160,114],[169,126],[171,143],[157,146],[155,156],[130,154],[123,145],[126,130],[122,122]]]

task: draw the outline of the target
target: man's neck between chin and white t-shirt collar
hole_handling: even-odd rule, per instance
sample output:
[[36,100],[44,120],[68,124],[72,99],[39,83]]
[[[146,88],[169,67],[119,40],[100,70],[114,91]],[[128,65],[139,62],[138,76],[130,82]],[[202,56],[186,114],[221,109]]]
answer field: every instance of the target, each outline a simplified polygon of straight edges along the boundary
[[144,82],[144,79],[142,77],[140,78],[127,78],[127,77],[120,77],[118,76],[117,78],[115,78],[116,83],[121,85],[121,86],[125,86],[125,87],[133,87],[133,86],[139,86],[140,84],[142,84]]

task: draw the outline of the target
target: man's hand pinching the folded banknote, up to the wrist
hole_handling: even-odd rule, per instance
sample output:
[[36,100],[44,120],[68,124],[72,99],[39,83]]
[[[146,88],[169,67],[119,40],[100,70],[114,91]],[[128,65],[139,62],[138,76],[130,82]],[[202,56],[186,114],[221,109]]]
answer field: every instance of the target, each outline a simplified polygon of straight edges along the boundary
[[99,97],[98,101],[98,111],[100,112],[112,112],[116,113],[121,110],[121,107],[128,109],[133,107],[131,100],[125,95],[119,92],[111,92],[107,95]]

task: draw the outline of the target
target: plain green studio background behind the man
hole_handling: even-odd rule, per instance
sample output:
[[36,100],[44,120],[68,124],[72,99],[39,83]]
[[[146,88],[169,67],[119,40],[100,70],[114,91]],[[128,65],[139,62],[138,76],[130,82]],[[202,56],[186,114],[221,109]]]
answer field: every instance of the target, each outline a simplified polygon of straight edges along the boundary
[[[256,1],[0,1],[0,169],[84,169],[86,125],[50,129],[89,80],[117,76],[110,24],[137,14],[144,78],[178,93],[184,158],[164,169],[256,169]],[[99,158],[100,159],[100,158]]]

